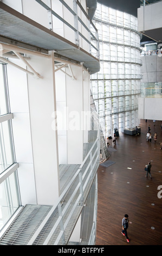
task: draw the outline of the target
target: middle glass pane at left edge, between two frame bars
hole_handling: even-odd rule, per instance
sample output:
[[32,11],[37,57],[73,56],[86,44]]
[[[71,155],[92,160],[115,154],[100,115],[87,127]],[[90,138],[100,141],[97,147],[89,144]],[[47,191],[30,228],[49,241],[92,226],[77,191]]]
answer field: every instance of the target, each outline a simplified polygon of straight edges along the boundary
[[0,123],[0,173],[12,163],[14,163],[14,160],[10,142],[9,121],[5,121]]

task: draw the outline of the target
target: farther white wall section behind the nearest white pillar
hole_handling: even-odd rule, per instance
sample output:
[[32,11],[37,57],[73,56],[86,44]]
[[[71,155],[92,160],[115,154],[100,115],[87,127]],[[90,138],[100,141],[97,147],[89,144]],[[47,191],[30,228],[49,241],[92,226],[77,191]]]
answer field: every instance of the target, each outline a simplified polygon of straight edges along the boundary
[[[82,65],[72,64],[71,69],[75,79],[61,70],[55,73],[59,164],[82,162],[83,143],[88,142],[90,130],[90,75]],[[63,71],[71,75],[68,66]]]

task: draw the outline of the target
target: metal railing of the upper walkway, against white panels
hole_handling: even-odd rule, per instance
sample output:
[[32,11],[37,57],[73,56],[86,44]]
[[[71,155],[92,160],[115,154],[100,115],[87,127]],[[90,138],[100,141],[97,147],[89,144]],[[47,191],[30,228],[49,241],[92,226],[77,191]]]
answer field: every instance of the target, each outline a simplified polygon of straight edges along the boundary
[[[94,55],[94,57],[99,59],[98,30],[94,26],[93,22],[89,19],[88,14],[83,9],[82,5],[78,0],[73,1],[73,9],[70,8],[70,6],[65,1],[59,0],[62,3],[63,7],[66,9],[69,15],[69,20],[71,20],[71,23],[64,20],[63,17],[61,17],[61,15],[57,14],[55,10],[52,9],[52,4],[50,0],[35,1],[41,4],[42,7],[47,10],[50,30],[53,30],[52,17],[54,16],[55,18],[59,19],[60,23],[62,23],[64,26],[67,26],[70,29],[70,31],[73,32],[74,38],[72,38],[72,40],[74,40],[77,46],[84,48],[84,50],[86,50],[90,54]],[[93,44],[91,39],[93,39]],[[88,44],[88,46],[85,47],[86,43]]]

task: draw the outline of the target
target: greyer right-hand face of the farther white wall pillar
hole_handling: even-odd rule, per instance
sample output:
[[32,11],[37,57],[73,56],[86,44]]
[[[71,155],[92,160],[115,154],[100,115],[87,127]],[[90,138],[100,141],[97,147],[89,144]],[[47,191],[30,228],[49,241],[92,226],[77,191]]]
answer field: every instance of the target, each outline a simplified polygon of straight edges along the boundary
[[68,164],[81,164],[83,160],[83,68],[73,66],[75,80],[66,76],[67,93],[67,159]]

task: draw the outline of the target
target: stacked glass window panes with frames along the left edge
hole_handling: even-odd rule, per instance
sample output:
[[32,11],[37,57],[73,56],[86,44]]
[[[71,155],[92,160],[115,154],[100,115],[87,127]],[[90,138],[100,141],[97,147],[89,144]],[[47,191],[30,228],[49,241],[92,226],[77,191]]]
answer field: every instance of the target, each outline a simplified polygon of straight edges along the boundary
[[7,69],[6,64],[0,64],[0,231],[20,205],[17,171],[8,174],[16,162],[9,113]]

